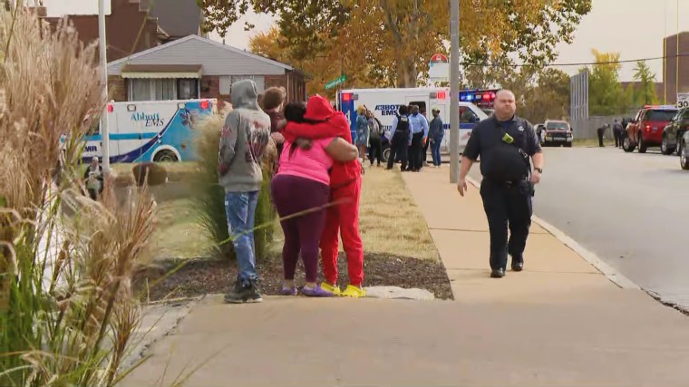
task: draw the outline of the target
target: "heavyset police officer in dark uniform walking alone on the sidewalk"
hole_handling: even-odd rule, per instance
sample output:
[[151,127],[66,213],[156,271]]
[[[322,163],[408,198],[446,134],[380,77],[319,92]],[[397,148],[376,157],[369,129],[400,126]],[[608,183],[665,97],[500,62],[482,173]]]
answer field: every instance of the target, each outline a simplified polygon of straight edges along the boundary
[[[480,196],[490,229],[490,276],[493,278],[505,276],[508,254],[512,256],[513,271],[524,267],[524,247],[533,214],[531,197],[543,173],[543,152],[536,131],[528,121],[517,117],[516,110],[513,92],[496,93],[494,114],[471,131],[461,158],[457,186],[464,196],[467,174],[480,157],[483,175]],[[529,157],[533,160],[533,172],[530,172]]]

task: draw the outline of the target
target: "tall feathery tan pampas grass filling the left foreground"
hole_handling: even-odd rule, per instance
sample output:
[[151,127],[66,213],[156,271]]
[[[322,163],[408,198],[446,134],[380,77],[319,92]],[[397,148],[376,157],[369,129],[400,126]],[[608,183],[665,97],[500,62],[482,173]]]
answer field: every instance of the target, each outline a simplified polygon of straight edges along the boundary
[[153,201],[116,200],[109,178],[94,202],[78,169],[105,104],[96,57],[68,24],[0,11],[3,386],[114,385],[141,321],[131,276]]

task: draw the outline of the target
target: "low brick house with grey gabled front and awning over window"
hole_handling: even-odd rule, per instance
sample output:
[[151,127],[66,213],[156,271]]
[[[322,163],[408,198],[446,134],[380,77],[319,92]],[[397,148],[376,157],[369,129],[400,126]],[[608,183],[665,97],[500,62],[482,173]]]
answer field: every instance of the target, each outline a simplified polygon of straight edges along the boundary
[[306,101],[305,78],[296,69],[196,34],[108,63],[108,79],[116,102],[231,102],[231,84],[240,79],[253,79],[258,92],[283,86],[288,101]]

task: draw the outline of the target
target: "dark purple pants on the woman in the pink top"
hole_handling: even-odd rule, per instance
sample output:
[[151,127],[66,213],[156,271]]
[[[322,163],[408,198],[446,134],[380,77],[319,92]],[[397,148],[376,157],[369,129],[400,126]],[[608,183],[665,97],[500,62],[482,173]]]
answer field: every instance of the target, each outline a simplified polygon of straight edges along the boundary
[[285,279],[295,279],[296,261],[301,252],[306,282],[315,282],[318,278],[318,243],[325,227],[325,205],[330,187],[312,179],[278,174],[271,181],[270,189],[280,218],[308,211],[280,221],[285,233],[285,246],[282,247]]

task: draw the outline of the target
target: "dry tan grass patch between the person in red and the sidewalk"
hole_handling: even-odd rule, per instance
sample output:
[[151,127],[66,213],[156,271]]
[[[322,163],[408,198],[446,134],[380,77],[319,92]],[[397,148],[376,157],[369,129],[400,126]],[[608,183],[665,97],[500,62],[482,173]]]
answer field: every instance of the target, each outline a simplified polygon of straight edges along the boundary
[[399,171],[366,169],[359,212],[367,253],[439,259],[426,220]]

